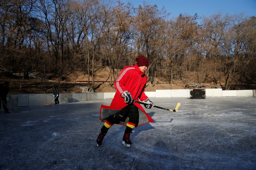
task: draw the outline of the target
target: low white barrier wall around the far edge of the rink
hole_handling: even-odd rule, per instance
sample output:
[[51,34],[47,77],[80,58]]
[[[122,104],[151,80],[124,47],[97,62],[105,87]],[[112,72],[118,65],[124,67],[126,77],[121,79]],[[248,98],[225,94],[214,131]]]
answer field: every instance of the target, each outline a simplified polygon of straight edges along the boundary
[[[255,90],[224,90],[205,89],[207,97],[256,97]],[[156,90],[145,92],[150,97],[190,97],[190,89]],[[115,92],[104,93],[60,93],[60,103],[73,103],[87,100],[113,99]],[[25,107],[36,105],[48,105],[53,100],[52,94],[8,94],[7,106]],[[54,104],[54,101],[52,102]]]

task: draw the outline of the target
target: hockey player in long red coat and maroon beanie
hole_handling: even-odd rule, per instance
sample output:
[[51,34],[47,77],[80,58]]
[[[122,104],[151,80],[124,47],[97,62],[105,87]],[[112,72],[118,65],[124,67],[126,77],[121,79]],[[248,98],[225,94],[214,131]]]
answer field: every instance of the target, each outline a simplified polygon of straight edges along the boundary
[[154,106],[144,93],[147,83],[145,71],[148,67],[148,59],[140,55],[136,58],[136,62],[136,65],[124,67],[115,81],[116,94],[110,106],[101,105],[100,120],[105,121],[105,123],[96,140],[97,146],[101,145],[108,129],[113,124],[126,125],[122,144],[130,147],[132,144],[130,135],[133,128],[153,122],[140,104],[133,103],[133,100],[139,101],[140,99],[140,101],[148,104],[145,105],[146,108]]

